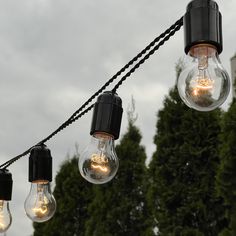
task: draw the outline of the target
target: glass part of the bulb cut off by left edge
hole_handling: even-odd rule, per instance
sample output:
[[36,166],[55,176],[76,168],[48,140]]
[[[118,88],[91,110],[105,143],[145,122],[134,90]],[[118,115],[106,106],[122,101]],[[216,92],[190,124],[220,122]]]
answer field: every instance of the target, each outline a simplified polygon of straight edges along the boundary
[[9,202],[0,200],[0,233],[4,233],[10,227],[12,222]]

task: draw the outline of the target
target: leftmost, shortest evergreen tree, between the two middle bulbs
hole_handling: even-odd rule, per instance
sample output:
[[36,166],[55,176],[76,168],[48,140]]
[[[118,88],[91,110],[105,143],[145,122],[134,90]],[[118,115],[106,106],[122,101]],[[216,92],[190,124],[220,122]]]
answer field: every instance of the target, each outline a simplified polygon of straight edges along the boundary
[[62,164],[56,176],[54,196],[56,213],[48,222],[34,223],[34,236],[84,236],[92,184],[81,177],[77,157]]

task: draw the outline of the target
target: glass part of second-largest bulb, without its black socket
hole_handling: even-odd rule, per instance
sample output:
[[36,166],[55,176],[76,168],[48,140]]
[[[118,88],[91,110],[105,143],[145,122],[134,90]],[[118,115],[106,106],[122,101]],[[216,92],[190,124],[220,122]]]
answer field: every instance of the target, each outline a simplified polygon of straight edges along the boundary
[[108,134],[96,133],[79,158],[80,174],[90,183],[104,184],[115,176],[118,167],[114,138]]

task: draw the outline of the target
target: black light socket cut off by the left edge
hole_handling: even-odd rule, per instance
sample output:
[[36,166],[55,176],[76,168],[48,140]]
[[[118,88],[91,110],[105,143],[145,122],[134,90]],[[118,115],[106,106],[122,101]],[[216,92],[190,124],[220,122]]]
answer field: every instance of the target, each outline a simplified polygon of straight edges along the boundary
[[11,200],[12,185],[12,174],[7,169],[0,169],[0,200]]

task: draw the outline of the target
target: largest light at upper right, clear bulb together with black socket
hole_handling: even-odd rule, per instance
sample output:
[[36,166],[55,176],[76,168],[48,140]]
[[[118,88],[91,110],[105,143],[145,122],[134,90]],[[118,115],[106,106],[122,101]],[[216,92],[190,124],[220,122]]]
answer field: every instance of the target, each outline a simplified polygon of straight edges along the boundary
[[230,91],[230,79],[220,63],[222,17],[213,0],[192,0],[184,15],[185,65],[177,87],[190,108],[211,111],[222,105]]

